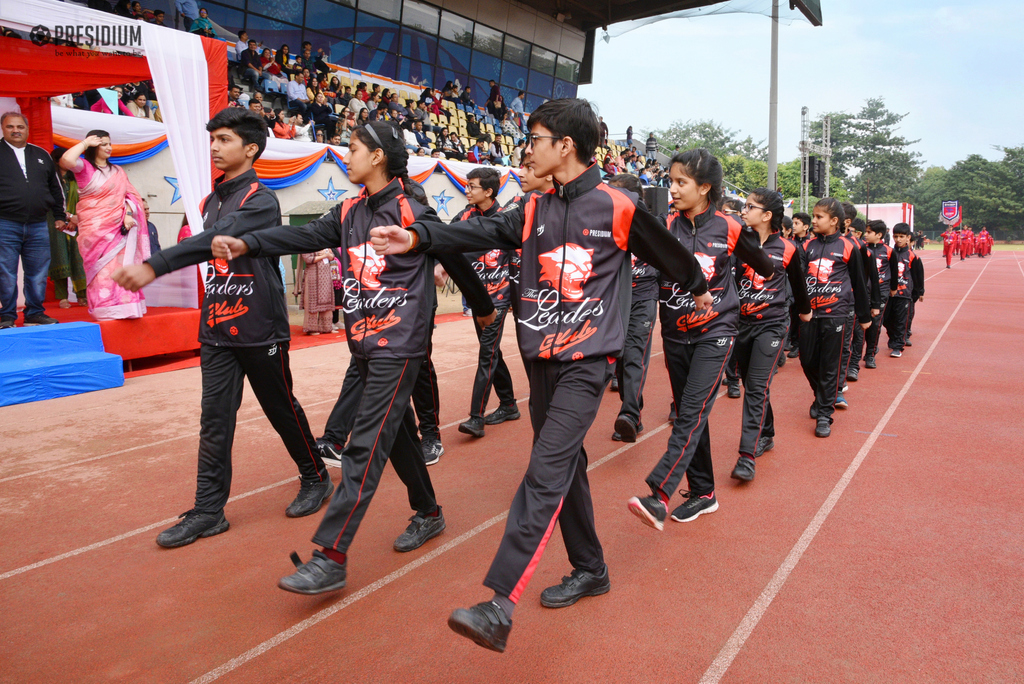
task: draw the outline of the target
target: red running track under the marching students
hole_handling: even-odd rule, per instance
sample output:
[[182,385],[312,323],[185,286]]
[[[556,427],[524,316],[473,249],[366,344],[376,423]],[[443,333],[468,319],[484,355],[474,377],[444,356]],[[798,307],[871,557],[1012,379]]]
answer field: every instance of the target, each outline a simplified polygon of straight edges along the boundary
[[[1021,681],[1024,253],[949,270],[930,257],[913,347],[861,372],[829,439],[812,434],[791,360],[773,384],[775,450],[738,484],[739,401],[718,400],[713,515],[658,533],[626,510],[668,438],[660,356],[645,439],[610,441],[606,394],[587,448],[612,591],[541,607],[541,590],[569,569],[556,535],[504,654],[445,626],[454,607],[489,596],[480,581],[529,444],[525,420],[480,440],[455,431],[474,371],[469,322],[435,335],[447,453],[431,477],[449,528],[393,552],[411,513],[387,470],[337,595],[275,587],[289,551],[308,555],[318,516],[284,516],[294,468],[248,390],[231,529],[173,551],[154,538],[191,503],[197,369],[0,410],[0,681]],[[513,344],[506,336],[525,397]],[[319,428],[347,349],[292,359]]]

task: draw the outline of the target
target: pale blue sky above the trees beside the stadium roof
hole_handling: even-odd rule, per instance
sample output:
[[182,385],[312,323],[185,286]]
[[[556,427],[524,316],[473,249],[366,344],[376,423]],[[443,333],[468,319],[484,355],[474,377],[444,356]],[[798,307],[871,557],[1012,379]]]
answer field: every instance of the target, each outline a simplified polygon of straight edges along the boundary
[[[780,163],[799,156],[802,106],[815,119],[868,97],[908,115],[899,133],[920,139],[911,149],[926,168],[1024,145],[1024,0],[821,0],[821,27],[780,6]],[[610,43],[601,33],[594,83],[579,96],[613,135],[713,119],[767,144],[769,16],[666,19]]]

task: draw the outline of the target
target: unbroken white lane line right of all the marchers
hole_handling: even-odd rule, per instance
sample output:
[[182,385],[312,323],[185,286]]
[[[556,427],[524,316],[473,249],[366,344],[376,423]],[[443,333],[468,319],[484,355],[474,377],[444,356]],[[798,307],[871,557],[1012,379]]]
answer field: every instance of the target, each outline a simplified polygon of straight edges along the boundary
[[[991,263],[991,261],[988,263]],[[839,502],[840,497],[842,497],[843,493],[846,491],[846,487],[850,484],[850,480],[852,480],[853,476],[857,474],[857,470],[860,468],[860,465],[864,462],[864,459],[867,458],[867,454],[871,451],[871,447],[874,446],[874,442],[882,434],[882,431],[886,428],[886,425],[889,424],[889,420],[893,417],[893,414],[896,413],[899,404],[903,401],[903,397],[905,397],[906,393],[910,390],[910,386],[913,385],[913,381],[918,379],[918,376],[921,374],[921,369],[923,369],[925,364],[928,362],[928,359],[931,358],[932,352],[935,351],[935,348],[942,340],[942,336],[946,334],[946,330],[956,316],[957,311],[959,311],[961,307],[964,306],[964,302],[967,301],[968,296],[970,296],[970,294],[974,291],[975,286],[978,285],[978,281],[981,280],[981,276],[987,268],[988,264],[985,264],[985,268],[981,269],[981,272],[978,273],[978,277],[974,280],[974,284],[964,294],[964,297],[956,305],[956,308],[953,309],[953,312],[949,314],[949,318],[946,319],[946,324],[942,327],[942,330],[939,331],[939,334],[936,336],[921,361],[918,362],[918,367],[913,370],[910,377],[907,378],[906,383],[903,384],[903,388],[900,389],[896,398],[894,398],[892,403],[889,404],[889,409],[886,411],[885,415],[882,416],[882,419],[879,420],[878,425],[876,425],[874,429],[871,430],[870,436],[867,437],[867,440],[864,441],[864,445],[860,447],[859,452],[857,452],[857,456],[854,457],[853,462],[846,469],[846,472],[843,473],[843,477],[840,478],[839,482],[837,482],[836,486],[828,495],[828,498],[825,499],[823,504],[821,504],[821,508],[818,509],[818,512],[814,515],[810,524],[808,524],[807,528],[804,529],[804,533],[800,536],[800,539],[797,540],[797,544],[790,551],[785,560],[782,561],[782,564],[779,565],[777,570],[775,570],[775,574],[772,575],[772,579],[768,582],[768,586],[765,587],[764,591],[761,592],[761,595],[754,602],[754,605],[751,606],[751,609],[746,611],[745,615],[743,615],[743,619],[739,623],[735,632],[732,633],[732,636],[729,637],[725,646],[723,646],[722,650],[719,651],[718,656],[711,664],[711,667],[708,668],[707,672],[705,672],[703,677],[700,678],[700,684],[718,684],[718,682],[722,680],[722,677],[729,669],[729,666],[732,665],[732,661],[739,653],[739,650],[743,647],[743,644],[746,643],[751,633],[754,632],[754,628],[756,628],[758,623],[761,622],[765,611],[768,610],[768,606],[771,605],[771,602],[782,589],[782,585],[785,584],[790,573],[793,572],[797,563],[800,562],[800,558],[804,555],[804,552],[807,551],[807,547],[809,547],[811,542],[814,541],[814,537],[818,533],[818,530],[821,529],[821,525],[824,524],[828,515],[833,512],[833,509]]]

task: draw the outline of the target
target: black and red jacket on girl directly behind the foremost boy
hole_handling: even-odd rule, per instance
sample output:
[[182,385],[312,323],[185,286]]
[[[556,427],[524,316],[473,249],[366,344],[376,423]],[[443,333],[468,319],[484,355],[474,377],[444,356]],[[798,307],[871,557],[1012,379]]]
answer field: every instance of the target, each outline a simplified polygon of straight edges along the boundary
[[[669,232],[693,254],[715,300],[710,311],[694,310],[693,296],[663,271],[659,315],[662,337],[694,344],[710,337],[735,336],[739,322],[739,295],[733,277],[733,255],[754,272],[771,277],[772,260],[761,250],[758,236],[736,219],[710,204],[692,220],[673,211],[665,218]],[[783,300],[785,294],[782,294]]]

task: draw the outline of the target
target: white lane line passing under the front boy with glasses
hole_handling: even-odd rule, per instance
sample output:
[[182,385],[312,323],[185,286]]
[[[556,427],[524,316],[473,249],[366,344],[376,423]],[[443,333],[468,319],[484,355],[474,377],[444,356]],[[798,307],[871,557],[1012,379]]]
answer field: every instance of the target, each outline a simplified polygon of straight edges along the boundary
[[[719,394],[721,395],[721,392]],[[615,458],[620,454],[623,454],[623,453],[625,453],[625,452],[633,448],[634,446],[636,446],[640,442],[644,441],[645,439],[653,437],[655,434],[662,432],[663,430],[665,430],[667,427],[670,427],[671,425],[672,425],[671,423],[664,423],[663,425],[659,425],[658,427],[654,428],[653,430],[651,430],[650,432],[648,432],[644,436],[637,437],[637,440],[635,442],[633,442],[631,444],[626,444],[625,446],[621,446],[621,447],[616,448],[614,452],[612,452],[611,454],[608,454],[607,456],[605,456],[601,460],[596,461],[596,462],[590,464],[590,466],[588,466],[588,468],[587,468],[587,472],[590,472],[594,468],[597,468],[598,466],[607,463],[608,461],[610,461],[611,459]],[[243,665],[249,662],[250,660],[259,657],[263,653],[266,653],[268,650],[270,650],[274,646],[280,646],[281,644],[285,643],[286,641],[288,641],[292,637],[294,637],[294,636],[296,636],[298,634],[301,634],[302,632],[305,632],[306,630],[308,630],[310,627],[313,627],[314,625],[317,625],[317,624],[324,622],[325,619],[327,619],[331,615],[335,614],[339,610],[343,610],[344,608],[347,608],[348,606],[352,605],[356,601],[365,599],[366,597],[370,596],[374,592],[380,591],[381,589],[383,589],[384,587],[387,587],[389,584],[391,584],[395,580],[398,580],[399,578],[404,576],[406,574],[408,574],[409,572],[415,570],[416,568],[420,567],[421,565],[429,563],[430,561],[432,561],[434,558],[437,558],[441,554],[447,553],[452,549],[455,549],[456,547],[458,547],[458,546],[460,546],[462,544],[465,544],[466,542],[468,542],[469,540],[473,539],[474,537],[476,537],[477,535],[479,535],[483,530],[487,529],[488,527],[494,526],[495,524],[497,524],[497,523],[501,522],[502,520],[504,520],[505,518],[507,518],[508,514],[509,514],[509,512],[506,510],[504,513],[500,513],[500,514],[496,515],[495,517],[490,518],[489,520],[486,520],[485,522],[481,522],[476,527],[473,527],[469,531],[460,535],[459,537],[455,538],[454,540],[452,540],[447,544],[444,544],[442,546],[437,547],[436,549],[434,549],[430,553],[424,555],[422,558],[418,558],[417,560],[414,560],[411,563],[402,565],[401,567],[399,567],[394,572],[391,572],[390,574],[387,574],[387,575],[381,578],[380,580],[378,580],[377,582],[375,582],[373,584],[367,585],[366,587],[364,587],[359,591],[355,592],[354,594],[352,594],[351,596],[349,596],[345,600],[339,601],[338,603],[335,603],[334,605],[331,605],[331,606],[328,606],[327,608],[324,608],[319,612],[313,613],[312,615],[310,615],[306,619],[302,621],[301,623],[293,625],[292,627],[288,628],[284,632],[280,632],[280,633],[275,634],[274,636],[270,637],[269,639],[267,639],[266,641],[264,641],[261,644],[259,644],[258,646],[250,648],[249,650],[247,650],[242,655],[239,655],[236,658],[231,658],[230,660],[228,660],[224,665],[220,666],[219,668],[215,668],[214,670],[211,670],[210,672],[206,673],[205,675],[203,675],[202,677],[200,677],[198,679],[194,679],[191,681],[191,684],[209,684],[210,682],[213,682],[213,681],[219,679],[220,677],[223,677],[224,675],[226,675],[227,673],[231,672],[232,670],[237,670],[238,668],[240,668]]]

